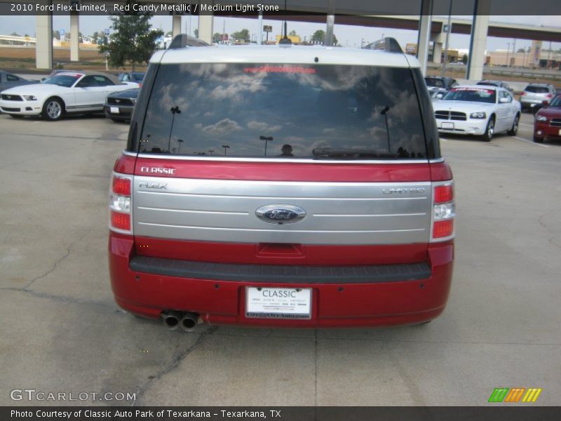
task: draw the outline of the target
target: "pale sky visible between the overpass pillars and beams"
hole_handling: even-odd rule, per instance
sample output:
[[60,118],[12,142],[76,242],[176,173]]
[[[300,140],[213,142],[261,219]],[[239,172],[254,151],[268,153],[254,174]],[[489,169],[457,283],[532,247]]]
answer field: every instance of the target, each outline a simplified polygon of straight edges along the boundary
[[[459,16],[458,18],[465,19],[466,16]],[[561,27],[561,16],[491,16],[491,22],[507,22],[507,23],[522,23],[525,25],[536,26],[551,26]],[[152,25],[155,28],[162,29],[164,32],[169,32],[172,29],[172,18],[170,16],[154,16],[151,19]],[[269,34],[274,38],[275,34],[280,34],[281,22],[278,20],[263,20],[264,25],[272,25],[273,32]],[[83,35],[91,35],[93,32],[100,32],[105,28],[109,28],[111,22],[107,16],[80,16],[80,32]],[[194,29],[198,26],[198,18],[190,16],[182,16],[182,29],[183,32],[193,34]],[[240,29],[249,29],[250,34],[257,36],[257,19],[244,19],[244,18],[215,18],[214,31],[222,32],[225,29],[227,34],[231,34]],[[69,32],[70,18],[69,16],[53,16],[53,30],[65,29]],[[288,31],[295,30],[302,39],[306,36],[308,39],[317,29],[325,31],[325,24],[313,24],[305,22],[289,22]],[[0,16],[0,33],[11,34],[17,32],[20,35],[29,34],[34,35],[35,32],[35,17],[34,16]],[[401,46],[407,43],[417,43],[417,31],[410,31],[405,29],[389,29],[377,27],[358,27],[348,25],[337,25],[335,22],[334,34],[337,36],[339,44],[349,47],[360,47],[361,42],[372,42],[380,39],[382,36],[393,36],[398,40]],[[450,35],[450,48],[463,49],[469,47],[469,36],[461,34]],[[510,47],[508,47],[510,44]],[[530,46],[531,41],[516,40],[515,48],[527,48]],[[487,39],[487,51],[506,50],[512,48],[513,39],[506,38],[493,38]],[[544,43],[543,48],[548,48],[548,43]],[[552,48],[558,50],[561,48],[561,43],[553,43]]]

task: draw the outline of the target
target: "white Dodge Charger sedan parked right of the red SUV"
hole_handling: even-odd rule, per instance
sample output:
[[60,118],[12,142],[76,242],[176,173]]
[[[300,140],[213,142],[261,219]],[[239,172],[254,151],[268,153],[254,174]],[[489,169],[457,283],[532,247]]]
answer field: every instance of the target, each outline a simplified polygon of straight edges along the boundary
[[518,132],[520,102],[496,86],[454,87],[433,108],[439,133],[478,135],[489,142],[494,133]]

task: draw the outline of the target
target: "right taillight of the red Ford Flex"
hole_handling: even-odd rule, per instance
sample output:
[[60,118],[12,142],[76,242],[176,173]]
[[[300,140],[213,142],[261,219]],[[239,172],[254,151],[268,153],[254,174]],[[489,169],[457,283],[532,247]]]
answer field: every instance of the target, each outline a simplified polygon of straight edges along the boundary
[[431,241],[445,241],[454,237],[454,183],[433,185],[433,215]]

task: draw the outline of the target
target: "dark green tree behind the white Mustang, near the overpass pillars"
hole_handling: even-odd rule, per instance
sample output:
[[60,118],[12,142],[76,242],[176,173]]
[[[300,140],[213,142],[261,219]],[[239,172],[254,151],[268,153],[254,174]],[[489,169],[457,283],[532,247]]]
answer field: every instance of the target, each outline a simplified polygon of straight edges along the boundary
[[150,15],[120,15],[109,19],[113,22],[113,33],[109,44],[100,46],[101,53],[109,53],[109,65],[130,64],[134,71],[136,65],[147,63],[156,50],[156,40],[163,36],[161,29],[151,29]]

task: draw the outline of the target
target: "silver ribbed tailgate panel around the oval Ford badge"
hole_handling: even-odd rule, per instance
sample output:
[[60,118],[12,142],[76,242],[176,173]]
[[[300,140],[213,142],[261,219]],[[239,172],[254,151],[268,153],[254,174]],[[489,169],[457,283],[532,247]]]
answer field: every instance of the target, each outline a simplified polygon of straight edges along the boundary
[[[165,191],[151,191],[163,182]],[[142,187],[140,187],[142,185]],[[189,241],[299,244],[428,243],[431,182],[266,182],[135,176],[135,235]],[[294,224],[257,218],[261,206],[306,210]]]

